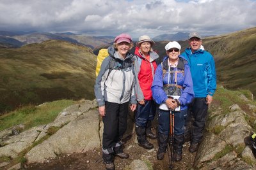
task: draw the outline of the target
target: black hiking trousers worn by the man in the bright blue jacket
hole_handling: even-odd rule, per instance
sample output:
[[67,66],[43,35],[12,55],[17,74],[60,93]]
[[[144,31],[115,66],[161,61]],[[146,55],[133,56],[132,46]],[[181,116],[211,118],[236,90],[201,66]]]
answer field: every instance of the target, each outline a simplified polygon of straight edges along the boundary
[[206,97],[195,97],[189,104],[185,135],[190,133],[191,143],[200,143],[203,137],[207,111]]

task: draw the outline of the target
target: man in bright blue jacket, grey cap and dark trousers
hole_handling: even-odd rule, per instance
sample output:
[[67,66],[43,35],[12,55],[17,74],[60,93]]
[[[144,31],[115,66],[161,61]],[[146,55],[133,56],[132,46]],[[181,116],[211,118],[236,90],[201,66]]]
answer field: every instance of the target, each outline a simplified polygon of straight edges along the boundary
[[[189,152],[196,152],[203,136],[208,105],[216,90],[216,71],[211,53],[202,50],[202,36],[197,32],[189,34],[189,48],[182,56],[189,62],[195,99],[189,104],[186,120],[186,134],[191,132]],[[191,123],[192,118],[194,118]],[[190,129],[189,124],[192,124]]]

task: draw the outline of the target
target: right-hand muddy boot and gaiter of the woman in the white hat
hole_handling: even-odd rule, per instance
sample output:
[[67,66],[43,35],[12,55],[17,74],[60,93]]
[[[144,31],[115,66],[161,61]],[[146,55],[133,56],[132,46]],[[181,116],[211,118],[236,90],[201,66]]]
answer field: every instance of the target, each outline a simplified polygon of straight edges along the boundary
[[185,143],[184,134],[174,135],[174,151],[175,151],[175,161],[182,160],[182,148]]

